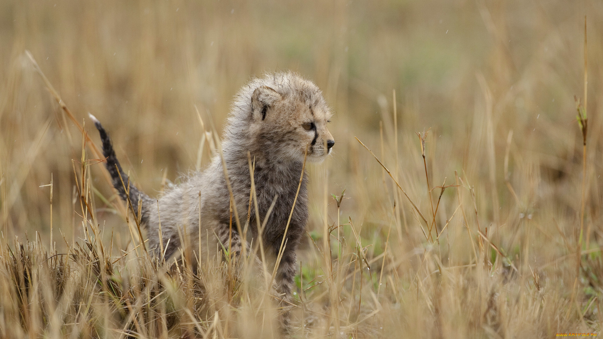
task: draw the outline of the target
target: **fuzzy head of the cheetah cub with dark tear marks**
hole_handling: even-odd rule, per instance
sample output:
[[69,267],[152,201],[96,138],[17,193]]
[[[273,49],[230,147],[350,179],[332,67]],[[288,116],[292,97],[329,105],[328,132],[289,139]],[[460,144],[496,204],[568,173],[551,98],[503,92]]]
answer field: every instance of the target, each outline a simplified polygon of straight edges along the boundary
[[[329,106],[311,81],[288,72],[252,80],[247,89],[248,137],[259,151],[275,159],[321,162],[335,145],[327,129]],[[235,103],[235,104],[238,104]]]

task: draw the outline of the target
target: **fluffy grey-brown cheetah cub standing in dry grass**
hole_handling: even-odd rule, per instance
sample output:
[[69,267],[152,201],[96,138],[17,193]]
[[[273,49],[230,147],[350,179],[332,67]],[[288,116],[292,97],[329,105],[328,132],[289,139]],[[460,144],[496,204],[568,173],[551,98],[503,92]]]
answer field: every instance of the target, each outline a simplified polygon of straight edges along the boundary
[[[158,256],[163,255],[160,247],[165,246],[163,251],[166,259],[177,257],[179,248],[185,245],[195,252],[201,248],[204,252],[201,258],[218,254],[218,248],[240,253],[242,246],[248,247],[248,244],[242,244],[243,237],[239,230],[244,229],[250,210],[247,225],[251,236],[247,236],[247,239],[254,239],[253,243],[257,244],[257,238],[261,236],[267,256],[272,258],[273,263],[285,238],[275,288],[282,299],[281,306],[286,306],[291,305],[291,289],[297,267],[295,251],[308,220],[305,173],[300,185],[303,162],[305,159],[322,162],[332,151],[335,141],[327,129],[331,115],[321,90],[298,74],[285,72],[254,78],[235,97],[223,132],[222,156],[216,154],[206,170],[189,176],[158,200],[140,192],[132,183],[128,192],[124,189],[121,178],[126,185],[128,179],[119,165],[109,135],[96,118],[90,118],[103,141],[106,167],[113,186],[122,199],[127,200],[129,194],[135,214],[141,211],[140,221],[147,228],[147,246],[151,251]],[[257,215],[254,203],[249,209],[251,179],[248,153],[255,165],[253,178]],[[233,206],[236,206],[235,212],[238,212],[242,225],[236,224],[235,217],[230,214],[231,195],[223,160],[232,188]],[[299,193],[293,206],[298,186]],[[273,209],[259,235],[257,224],[264,222],[273,202]],[[285,234],[289,214],[291,221]],[[159,223],[162,239],[159,238]],[[188,235],[186,238],[185,232]],[[209,246],[206,246],[207,236]],[[200,238],[201,244],[198,243]],[[269,266],[268,270],[271,271],[272,267]],[[289,317],[286,313],[281,322],[285,331],[288,331]]]

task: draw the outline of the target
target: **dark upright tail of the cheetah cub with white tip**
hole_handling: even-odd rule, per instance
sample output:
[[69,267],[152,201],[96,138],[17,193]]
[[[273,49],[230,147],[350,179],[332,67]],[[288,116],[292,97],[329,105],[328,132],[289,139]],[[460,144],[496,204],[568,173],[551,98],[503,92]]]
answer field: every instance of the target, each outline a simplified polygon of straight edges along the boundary
[[[107,131],[101,125],[101,122],[96,119],[92,114],[90,115],[90,119],[94,122],[96,129],[101,135],[101,141],[103,141],[103,155],[106,157],[106,167],[107,171],[111,175],[111,180],[113,182],[113,187],[118,191],[119,196],[124,200],[128,200],[128,192],[125,187],[128,185],[128,176],[124,173],[124,170],[121,169],[121,165],[119,165],[119,160],[117,160],[117,156],[115,156],[115,150],[113,150],[113,145],[111,144],[111,139],[107,134]],[[122,182],[123,180],[123,182]],[[132,204],[133,213],[135,216],[138,215],[138,203],[142,204],[140,208],[140,221],[143,224],[147,224],[148,216],[149,216],[149,208],[151,207],[151,203],[153,200],[148,197],[148,195],[140,192],[133,183],[130,182],[129,186],[129,198]]]

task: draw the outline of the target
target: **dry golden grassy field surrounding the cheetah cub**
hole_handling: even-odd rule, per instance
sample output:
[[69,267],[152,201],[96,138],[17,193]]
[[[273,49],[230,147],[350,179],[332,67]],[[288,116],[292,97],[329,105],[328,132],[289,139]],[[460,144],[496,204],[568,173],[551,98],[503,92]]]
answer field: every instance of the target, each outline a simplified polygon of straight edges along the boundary
[[294,337],[599,334],[602,39],[601,1],[3,0],[0,337],[278,337],[253,266],[147,256],[87,113],[155,196],[286,69],[336,141],[309,166]]

